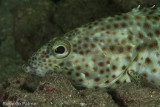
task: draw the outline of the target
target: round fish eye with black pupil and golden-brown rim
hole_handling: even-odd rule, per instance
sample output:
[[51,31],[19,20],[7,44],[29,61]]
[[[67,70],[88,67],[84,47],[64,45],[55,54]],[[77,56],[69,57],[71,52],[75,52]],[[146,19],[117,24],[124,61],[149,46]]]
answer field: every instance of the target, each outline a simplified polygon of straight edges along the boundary
[[71,46],[67,41],[57,41],[52,48],[53,55],[59,59],[67,57],[70,51]]

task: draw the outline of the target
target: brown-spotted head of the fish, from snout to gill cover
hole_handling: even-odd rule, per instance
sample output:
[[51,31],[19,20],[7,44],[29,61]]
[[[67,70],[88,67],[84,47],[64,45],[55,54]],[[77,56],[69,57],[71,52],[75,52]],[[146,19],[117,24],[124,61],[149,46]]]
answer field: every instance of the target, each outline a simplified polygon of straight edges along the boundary
[[116,61],[120,55],[114,56],[106,50],[108,45],[103,35],[99,37],[99,33],[84,32],[84,29],[81,27],[50,40],[23,66],[25,71],[38,76],[45,76],[49,71],[62,71],[73,84],[87,88],[109,87],[115,83],[124,73],[120,68],[121,61]]

